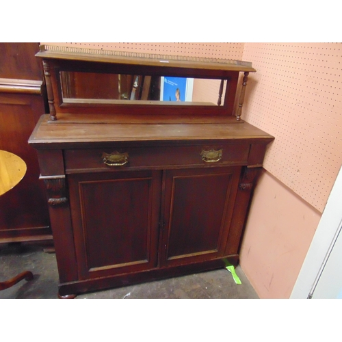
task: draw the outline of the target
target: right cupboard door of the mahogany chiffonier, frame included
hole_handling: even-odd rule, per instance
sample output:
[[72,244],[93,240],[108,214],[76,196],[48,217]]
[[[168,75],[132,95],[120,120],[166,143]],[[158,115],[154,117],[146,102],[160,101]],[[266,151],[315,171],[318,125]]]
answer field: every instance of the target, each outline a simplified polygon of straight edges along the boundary
[[166,171],[161,264],[224,256],[241,168]]

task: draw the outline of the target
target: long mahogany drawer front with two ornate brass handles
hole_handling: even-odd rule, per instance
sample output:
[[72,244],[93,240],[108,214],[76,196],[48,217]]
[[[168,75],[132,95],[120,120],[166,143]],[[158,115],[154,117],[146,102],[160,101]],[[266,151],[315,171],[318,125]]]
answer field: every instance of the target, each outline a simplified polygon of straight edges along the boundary
[[66,173],[247,165],[249,144],[64,150]]

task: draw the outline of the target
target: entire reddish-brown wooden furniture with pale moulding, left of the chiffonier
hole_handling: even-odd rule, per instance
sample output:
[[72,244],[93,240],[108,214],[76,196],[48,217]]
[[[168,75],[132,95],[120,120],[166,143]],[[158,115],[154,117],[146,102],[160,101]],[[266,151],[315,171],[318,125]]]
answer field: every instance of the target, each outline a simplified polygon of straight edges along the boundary
[[27,172],[0,197],[0,243],[52,241],[37,153],[27,140],[45,112],[38,43],[0,43],[0,149],[21,157]]

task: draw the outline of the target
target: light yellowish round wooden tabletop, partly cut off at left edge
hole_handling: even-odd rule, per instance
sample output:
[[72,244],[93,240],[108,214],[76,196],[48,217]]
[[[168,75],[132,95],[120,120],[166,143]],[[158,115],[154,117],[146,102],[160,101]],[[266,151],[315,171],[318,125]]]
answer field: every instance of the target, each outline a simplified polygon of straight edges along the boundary
[[0,150],[0,196],[15,187],[25,176],[26,163],[13,153]]

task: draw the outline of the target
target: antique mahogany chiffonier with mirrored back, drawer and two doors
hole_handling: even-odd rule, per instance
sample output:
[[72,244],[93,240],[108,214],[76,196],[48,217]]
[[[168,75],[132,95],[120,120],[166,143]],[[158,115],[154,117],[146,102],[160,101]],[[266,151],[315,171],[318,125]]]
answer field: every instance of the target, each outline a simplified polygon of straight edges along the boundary
[[50,112],[29,144],[60,298],[237,265],[274,139],[240,118],[252,64],[52,46],[36,56]]

